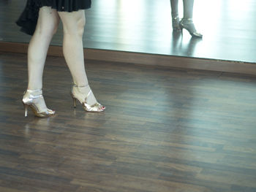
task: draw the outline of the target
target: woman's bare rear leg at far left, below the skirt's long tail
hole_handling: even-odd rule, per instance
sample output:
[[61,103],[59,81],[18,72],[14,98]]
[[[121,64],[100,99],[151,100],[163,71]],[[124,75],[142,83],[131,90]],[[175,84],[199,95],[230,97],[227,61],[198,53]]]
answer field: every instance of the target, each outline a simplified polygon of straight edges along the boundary
[[[28,69],[29,85],[23,96],[23,102],[31,102],[37,106],[39,112],[47,111],[42,95],[42,74],[45,66],[45,58],[50,41],[59,25],[59,15],[50,7],[39,9],[37,28],[29,42]],[[32,99],[34,98],[34,99]]]

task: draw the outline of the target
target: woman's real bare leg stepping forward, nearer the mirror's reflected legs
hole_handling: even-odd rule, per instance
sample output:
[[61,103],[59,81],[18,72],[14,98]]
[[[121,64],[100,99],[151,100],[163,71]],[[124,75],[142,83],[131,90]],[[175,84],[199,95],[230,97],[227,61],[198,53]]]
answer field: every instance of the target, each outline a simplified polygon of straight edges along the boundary
[[[83,31],[86,24],[85,11],[77,12],[59,12],[63,23],[64,39],[63,53],[64,58],[69,66],[72,79],[78,88],[75,88],[74,94],[78,100],[83,101],[90,91],[83,56]],[[88,98],[88,104],[95,104],[97,100],[91,93]]]

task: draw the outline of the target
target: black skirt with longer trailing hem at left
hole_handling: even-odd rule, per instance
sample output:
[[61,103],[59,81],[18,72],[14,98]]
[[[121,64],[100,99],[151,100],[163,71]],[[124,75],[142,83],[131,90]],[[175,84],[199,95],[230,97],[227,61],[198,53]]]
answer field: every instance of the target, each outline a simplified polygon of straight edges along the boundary
[[26,7],[16,21],[20,31],[33,35],[37,26],[39,9],[52,7],[58,12],[74,12],[80,9],[89,9],[91,0],[27,0]]

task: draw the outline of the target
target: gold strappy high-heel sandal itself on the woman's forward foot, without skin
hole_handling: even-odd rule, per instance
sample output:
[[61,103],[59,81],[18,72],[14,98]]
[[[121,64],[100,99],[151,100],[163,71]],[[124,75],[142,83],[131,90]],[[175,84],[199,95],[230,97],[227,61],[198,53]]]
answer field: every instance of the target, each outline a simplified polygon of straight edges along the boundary
[[[89,85],[86,85],[86,86],[78,86],[78,85],[75,85],[75,84],[72,85],[70,94],[71,94],[72,99],[73,99],[74,108],[76,108],[76,100],[78,99],[78,97],[75,96],[74,89],[77,89],[77,91],[80,92],[79,88],[86,88],[88,86]],[[83,99],[83,101],[80,101],[80,99],[78,99],[78,101],[80,101],[80,103],[82,104],[83,109],[86,110],[87,112],[102,112],[102,111],[104,111],[106,109],[106,107],[103,106],[102,104],[99,104],[97,101],[96,101],[95,104],[91,104],[91,105],[87,103],[91,93],[92,93],[92,91],[91,91],[91,88],[90,88],[89,93],[87,93],[87,96],[85,97],[85,99]]]

